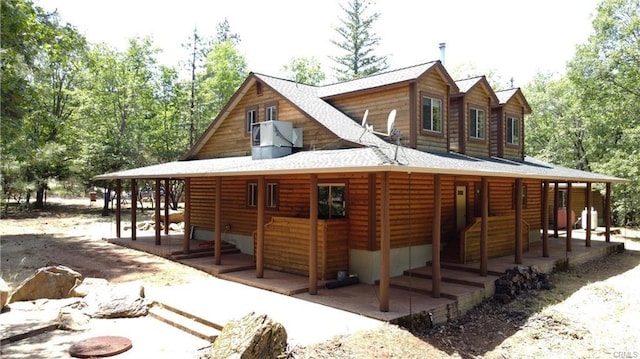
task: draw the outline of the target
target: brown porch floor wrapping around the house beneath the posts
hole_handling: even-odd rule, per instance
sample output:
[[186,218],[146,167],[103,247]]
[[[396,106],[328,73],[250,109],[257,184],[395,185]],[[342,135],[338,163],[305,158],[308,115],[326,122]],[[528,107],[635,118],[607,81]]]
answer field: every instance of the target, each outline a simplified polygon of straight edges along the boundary
[[[592,233],[591,247],[585,246],[582,230],[573,231],[572,251],[566,252],[564,232],[559,238],[549,239],[549,257],[542,257],[542,242],[530,244],[523,253],[523,265],[537,266],[544,272],[556,268],[574,266],[592,259],[606,256],[624,248],[622,243],[605,242],[604,236]],[[182,253],[182,235],[163,235],[161,245],[155,245],[153,236],[138,236],[136,241],[130,238],[111,238],[109,242],[145,251],[171,259]],[[211,242],[192,240],[191,253],[211,250]],[[203,253],[206,255],[206,253]],[[265,269],[263,278],[256,278],[253,256],[234,253],[223,254],[222,264],[213,263],[213,254],[199,258],[176,260],[179,263],[197,268],[215,277],[242,283],[251,287],[293,296],[295,298],[315,302],[329,307],[342,309],[366,317],[395,321],[415,314],[432,315],[435,322],[444,322],[464,313],[484,298],[491,297],[494,282],[498,275],[513,268],[514,256],[492,258],[488,262],[490,275],[482,277],[478,274],[479,263],[442,263],[441,298],[433,298],[431,291],[429,265],[406,271],[404,275],[391,278],[389,289],[389,311],[379,309],[379,286],[376,284],[355,284],[334,289],[327,289],[326,282],[318,282],[318,294],[310,295],[309,281],[305,276],[289,274]],[[232,299],[230,299],[232,300]],[[188,303],[184,304],[188,310]]]

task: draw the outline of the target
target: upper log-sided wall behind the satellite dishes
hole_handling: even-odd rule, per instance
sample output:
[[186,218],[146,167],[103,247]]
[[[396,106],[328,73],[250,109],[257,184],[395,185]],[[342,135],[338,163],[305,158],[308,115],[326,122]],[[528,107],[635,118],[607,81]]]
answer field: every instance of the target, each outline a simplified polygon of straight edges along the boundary
[[409,85],[341,96],[328,102],[357,123],[362,123],[365,111],[369,110],[367,123],[377,132],[387,132],[389,112],[395,109],[395,126],[402,132],[405,141],[409,138]]

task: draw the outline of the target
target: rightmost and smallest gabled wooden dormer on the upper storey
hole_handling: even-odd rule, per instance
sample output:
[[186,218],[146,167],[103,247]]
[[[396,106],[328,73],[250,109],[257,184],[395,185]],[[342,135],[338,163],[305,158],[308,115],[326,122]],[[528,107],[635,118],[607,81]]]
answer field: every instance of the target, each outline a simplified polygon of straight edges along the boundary
[[498,104],[491,108],[491,155],[524,159],[524,115],[531,106],[520,88],[497,91]]

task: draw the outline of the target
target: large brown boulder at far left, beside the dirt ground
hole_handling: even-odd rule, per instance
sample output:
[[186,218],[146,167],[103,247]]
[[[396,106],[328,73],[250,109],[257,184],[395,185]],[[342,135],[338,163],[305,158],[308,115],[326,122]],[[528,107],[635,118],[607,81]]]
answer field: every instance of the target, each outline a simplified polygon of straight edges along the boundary
[[9,303],[44,298],[69,298],[73,289],[81,282],[82,274],[71,268],[62,265],[43,267],[22,281],[9,298]]

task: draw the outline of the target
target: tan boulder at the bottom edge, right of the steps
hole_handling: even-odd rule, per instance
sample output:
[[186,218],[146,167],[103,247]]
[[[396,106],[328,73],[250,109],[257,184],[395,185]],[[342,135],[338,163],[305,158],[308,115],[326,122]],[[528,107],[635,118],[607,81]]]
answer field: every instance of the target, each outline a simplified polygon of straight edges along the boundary
[[267,315],[250,313],[227,323],[213,343],[213,358],[277,358],[287,349],[287,331]]

